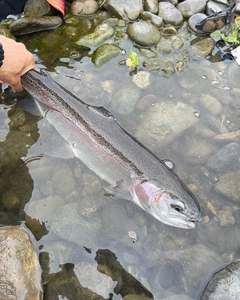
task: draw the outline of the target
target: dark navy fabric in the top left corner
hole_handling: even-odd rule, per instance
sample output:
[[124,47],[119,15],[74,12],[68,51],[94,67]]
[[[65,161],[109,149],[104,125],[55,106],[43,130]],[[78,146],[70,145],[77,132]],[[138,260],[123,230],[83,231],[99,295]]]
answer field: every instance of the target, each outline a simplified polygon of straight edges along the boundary
[[0,0],[0,19],[22,12],[26,0]]

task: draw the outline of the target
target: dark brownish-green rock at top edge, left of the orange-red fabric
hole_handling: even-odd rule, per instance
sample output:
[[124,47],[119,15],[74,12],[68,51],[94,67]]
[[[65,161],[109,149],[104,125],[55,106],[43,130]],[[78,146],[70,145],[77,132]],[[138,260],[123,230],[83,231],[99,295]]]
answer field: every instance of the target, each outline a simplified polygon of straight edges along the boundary
[[41,17],[51,13],[51,5],[46,0],[28,0],[24,6],[26,17]]

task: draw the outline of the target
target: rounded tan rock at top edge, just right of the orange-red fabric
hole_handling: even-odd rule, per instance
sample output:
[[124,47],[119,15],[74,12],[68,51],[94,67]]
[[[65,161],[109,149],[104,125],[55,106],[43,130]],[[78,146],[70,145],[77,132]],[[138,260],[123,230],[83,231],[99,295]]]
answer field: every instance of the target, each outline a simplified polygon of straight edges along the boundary
[[76,0],[71,4],[73,15],[93,15],[99,10],[99,5],[95,0]]

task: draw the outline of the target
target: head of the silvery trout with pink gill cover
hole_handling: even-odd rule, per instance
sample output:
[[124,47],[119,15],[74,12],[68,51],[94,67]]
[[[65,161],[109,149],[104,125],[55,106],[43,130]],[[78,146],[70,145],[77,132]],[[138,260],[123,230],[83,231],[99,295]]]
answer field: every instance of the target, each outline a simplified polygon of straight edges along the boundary
[[[181,183],[180,183],[181,186]],[[164,224],[192,229],[202,219],[195,196],[186,187],[163,189],[157,182],[142,182],[135,186],[135,201]]]

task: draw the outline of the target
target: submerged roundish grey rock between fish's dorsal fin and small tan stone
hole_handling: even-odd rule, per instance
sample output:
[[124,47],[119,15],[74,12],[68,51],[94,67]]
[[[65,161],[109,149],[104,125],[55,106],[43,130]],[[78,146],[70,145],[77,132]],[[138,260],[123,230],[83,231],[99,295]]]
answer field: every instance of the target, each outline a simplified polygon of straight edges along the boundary
[[120,115],[128,115],[133,110],[140,97],[141,90],[135,84],[127,84],[112,97],[111,107]]

